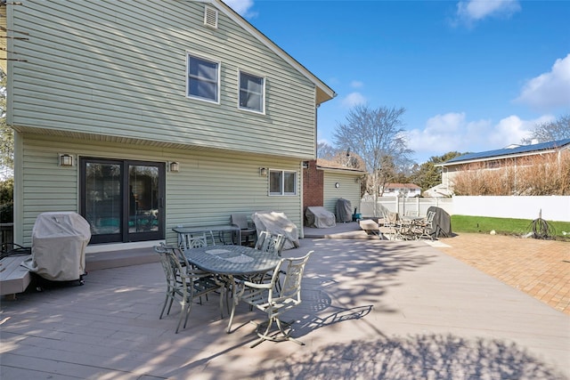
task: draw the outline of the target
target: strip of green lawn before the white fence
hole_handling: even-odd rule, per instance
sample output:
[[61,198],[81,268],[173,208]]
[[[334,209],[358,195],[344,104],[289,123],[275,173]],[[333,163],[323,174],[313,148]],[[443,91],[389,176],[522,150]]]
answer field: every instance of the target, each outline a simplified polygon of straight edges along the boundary
[[[529,219],[452,215],[452,231],[456,233],[489,233],[495,230],[501,235],[522,236],[533,231],[532,222],[533,221]],[[547,222],[553,229],[553,238],[570,241],[570,222]]]

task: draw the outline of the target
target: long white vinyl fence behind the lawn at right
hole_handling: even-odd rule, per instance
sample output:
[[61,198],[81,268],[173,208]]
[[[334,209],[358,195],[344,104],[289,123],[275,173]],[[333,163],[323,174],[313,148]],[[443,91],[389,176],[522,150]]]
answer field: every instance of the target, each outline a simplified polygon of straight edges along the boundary
[[398,198],[379,197],[374,214],[374,198],[361,199],[362,217],[379,217],[382,208],[398,214],[425,216],[430,206],[441,207],[447,214],[490,216],[496,218],[538,218],[551,222],[570,222],[570,197],[453,197],[453,198]]

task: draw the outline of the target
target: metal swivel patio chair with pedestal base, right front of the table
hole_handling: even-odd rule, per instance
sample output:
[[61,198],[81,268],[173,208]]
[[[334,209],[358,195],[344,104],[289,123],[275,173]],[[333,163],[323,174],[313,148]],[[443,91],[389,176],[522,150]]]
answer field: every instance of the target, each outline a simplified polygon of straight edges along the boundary
[[[256,333],[260,339],[251,347],[255,347],[266,340],[273,342],[290,340],[303,345],[303,342],[290,336],[291,324],[294,321],[285,322],[280,319],[280,316],[301,303],[301,280],[303,279],[305,264],[313,252],[310,251],[302,257],[282,258],[273,271],[269,283],[258,284],[250,281],[239,281],[237,283],[239,293],[233,302],[228,333],[232,329],[235,307],[238,303],[243,302],[267,314],[267,320],[264,323],[257,324]],[[280,278],[282,278],[281,287],[278,288],[276,284],[280,282]],[[272,331],[273,324],[276,325],[277,331]]]

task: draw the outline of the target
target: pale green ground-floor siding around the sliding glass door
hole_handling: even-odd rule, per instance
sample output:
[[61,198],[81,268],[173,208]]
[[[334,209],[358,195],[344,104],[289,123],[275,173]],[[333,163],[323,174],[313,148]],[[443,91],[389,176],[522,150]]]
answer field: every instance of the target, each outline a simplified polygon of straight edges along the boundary
[[[259,175],[259,167],[278,167],[297,171],[300,162],[224,151],[174,150],[140,145],[84,141],[67,137],[24,134],[21,181],[20,241],[31,243],[31,230],[37,214],[48,211],[78,212],[78,167],[58,166],[58,153],[90,158],[131,159],[156,162],[177,161],[178,173],[166,174],[167,241],[175,242],[172,231],[177,225],[199,226],[225,224],[235,212],[253,213],[273,210],[284,212],[301,223],[301,196],[269,197],[268,177]],[[297,177],[297,186],[300,181]]]

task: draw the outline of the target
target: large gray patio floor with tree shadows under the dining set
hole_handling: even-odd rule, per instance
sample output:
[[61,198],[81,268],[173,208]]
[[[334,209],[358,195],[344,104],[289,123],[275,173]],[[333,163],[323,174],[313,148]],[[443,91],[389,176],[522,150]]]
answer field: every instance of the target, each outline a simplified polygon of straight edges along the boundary
[[315,251],[289,314],[304,346],[250,349],[262,315],[240,305],[227,335],[217,296],[176,335],[162,269],[144,263],[3,300],[0,378],[570,378],[565,313],[424,241],[305,236],[283,253]]

